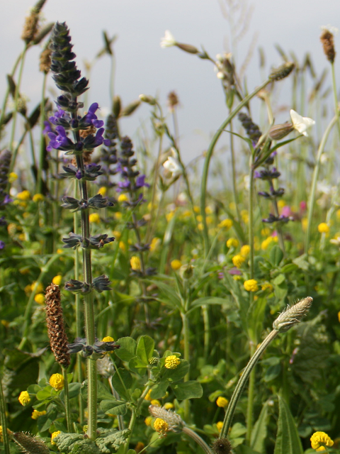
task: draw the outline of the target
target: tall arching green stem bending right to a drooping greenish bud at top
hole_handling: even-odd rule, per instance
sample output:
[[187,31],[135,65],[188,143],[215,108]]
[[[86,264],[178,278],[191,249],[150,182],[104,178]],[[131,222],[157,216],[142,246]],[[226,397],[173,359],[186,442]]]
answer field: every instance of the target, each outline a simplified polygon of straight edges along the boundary
[[209,252],[209,235],[208,235],[208,224],[207,224],[207,219],[206,219],[206,214],[205,214],[205,204],[206,204],[206,192],[207,192],[207,182],[208,182],[208,172],[209,172],[209,165],[210,165],[210,160],[212,157],[212,153],[214,152],[215,145],[217,143],[217,140],[220,138],[220,135],[222,132],[225,130],[225,127],[232,121],[232,118],[236,116],[236,114],[242,109],[242,107],[246,106],[246,104],[249,103],[249,101],[258,94],[261,89],[266,87],[271,82],[271,79],[267,79],[265,82],[263,82],[259,87],[257,87],[254,92],[246,96],[242,102],[239,103],[239,105],[229,114],[229,116],[223,121],[222,125],[220,126],[219,129],[217,129],[215,135],[213,136],[208,150],[207,154],[205,156],[205,161],[204,161],[204,166],[203,166],[203,174],[202,174],[202,183],[200,185],[200,214],[202,216],[202,222],[203,222],[203,240],[204,240],[204,251],[205,255],[208,254]]

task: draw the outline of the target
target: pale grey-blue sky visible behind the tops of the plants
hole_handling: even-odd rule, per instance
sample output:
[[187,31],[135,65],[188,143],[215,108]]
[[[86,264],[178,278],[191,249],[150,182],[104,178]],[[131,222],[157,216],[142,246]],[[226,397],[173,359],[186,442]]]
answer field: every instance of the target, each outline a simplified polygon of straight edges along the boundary
[[[225,0],[221,1],[225,4]],[[322,72],[327,61],[319,43],[320,26],[331,24],[340,28],[339,0],[253,0],[249,4],[254,6],[254,13],[237,55],[242,63],[254,33],[258,33],[256,49],[246,72],[249,89],[261,81],[259,45],[266,52],[267,72],[272,65],[280,64],[278,52],[273,48],[275,43],[287,51],[294,50],[300,59],[306,51],[311,52],[317,72]],[[1,96],[5,75],[23,47],[20,40],[23,18],[32,5],[32,0],[6,1],[1,5]],[[183,153],[190,157],[202,153],[210,133],[219,127],[227,113],[220,81],[210,62],[177,48],[162,49],[159,42],[169,29],[180,42],[197,47],[204,45],[212,57],[229,50],[225,48],[229,26],[217,0],[47,0],[43,11],[47,21],[67,21],[81,68],[83,60],[91,60],[101,48],[103,29],[110,36],[118,34],[115,87],[123,104],[137,99],[141,93],[158,93],[165,106],[166,95],[176,90],[181,100],[179,128]],[[340,51],[339,36],[336,46]],[[30,50],[26,61],[22,92],[31,100],[30,109],[40,97],[39,52]],[[340,79],[339,58],[336,70]],[[98,101],[101,106],[110,104],[108,72],[109,60],[103,57],[90,81],[90,101]],[[289,101],[283,100],[285,104]],[[148,109],[149,106],[143,105],[133,118],[123,119],[124,132],[132,135],[140,122],[147,119]]]

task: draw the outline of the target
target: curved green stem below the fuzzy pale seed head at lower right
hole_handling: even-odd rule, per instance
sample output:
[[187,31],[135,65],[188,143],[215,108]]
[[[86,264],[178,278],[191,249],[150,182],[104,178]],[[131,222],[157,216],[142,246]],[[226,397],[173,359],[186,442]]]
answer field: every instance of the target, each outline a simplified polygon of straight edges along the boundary
[[241,397],[242,391],[244,389],[244,386],[246,385],[246,382],[248,381],[251,370],[253,370],[253,367],[256,365],[256,362],[258,362],[264,350],[266,350],[268,345],[271,343],[271,341],[273,341],[274,338],[276,338],[277,335],[278,331],[273,329],[273,331],[271,331],[271,333],[269,333],[268,336],[264,339],[264,341],[261,343],[259,348],[256,350],[256,352],[246,365],[241,377],[239,378],[239,381],[237,382],[234,392],[232,393],[232,398],[230,399],[227,411],[225,412],[225,419],[223,421],[220,438],[225,438],[229,433],[229,428],[232,424],[232,418],[234,416],[237,402]]

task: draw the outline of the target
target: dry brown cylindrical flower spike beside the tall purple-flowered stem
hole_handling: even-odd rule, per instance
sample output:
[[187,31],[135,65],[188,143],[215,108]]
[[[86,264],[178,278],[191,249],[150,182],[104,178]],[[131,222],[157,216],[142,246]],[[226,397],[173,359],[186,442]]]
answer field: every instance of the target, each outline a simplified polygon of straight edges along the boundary
[[46,321],[50,345],[55,359],[66,369],[69,366],[71,355],[67,347],[68,340],[62,317],[62,305],[60,304],[60,287],[51,284],[46,289]]

